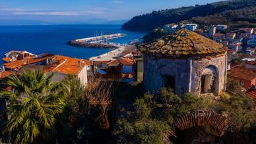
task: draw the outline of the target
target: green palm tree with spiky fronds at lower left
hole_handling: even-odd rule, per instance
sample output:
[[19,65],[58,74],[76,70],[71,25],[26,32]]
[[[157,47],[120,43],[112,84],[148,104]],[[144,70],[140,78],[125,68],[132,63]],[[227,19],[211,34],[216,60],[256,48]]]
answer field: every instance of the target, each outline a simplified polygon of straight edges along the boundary
[[0,91],[0,96],[7,100],[9,117],[4,133],[11,134],[13,142],[34,143],[54,132],[56,116],[65,108],[65,93],[52,77],[42,70],[28,70],[7,79],[12,89]]

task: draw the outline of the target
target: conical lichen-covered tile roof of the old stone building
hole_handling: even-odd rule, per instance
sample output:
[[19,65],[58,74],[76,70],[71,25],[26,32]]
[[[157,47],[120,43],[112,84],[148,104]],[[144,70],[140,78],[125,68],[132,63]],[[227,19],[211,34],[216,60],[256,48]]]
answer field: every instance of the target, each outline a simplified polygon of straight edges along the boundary
[[181,29],[174,34],[161,37],[151,43],[139,45],[143,53],[167,55],[170,57],[189,57],[225,53],[227,48],[221,43],[201,36],[195,32]]

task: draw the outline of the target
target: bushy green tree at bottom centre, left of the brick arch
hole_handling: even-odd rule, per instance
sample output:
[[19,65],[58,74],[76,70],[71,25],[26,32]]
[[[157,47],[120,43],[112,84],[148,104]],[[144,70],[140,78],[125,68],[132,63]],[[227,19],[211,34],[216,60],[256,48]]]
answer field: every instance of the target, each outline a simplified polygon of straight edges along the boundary
[[166,122],[153,116],[154,99],[145,94],[133,104],[135,110],[127,117],[117,120],[113,131],[117,143],[164,143],[164,133],[170,130]]

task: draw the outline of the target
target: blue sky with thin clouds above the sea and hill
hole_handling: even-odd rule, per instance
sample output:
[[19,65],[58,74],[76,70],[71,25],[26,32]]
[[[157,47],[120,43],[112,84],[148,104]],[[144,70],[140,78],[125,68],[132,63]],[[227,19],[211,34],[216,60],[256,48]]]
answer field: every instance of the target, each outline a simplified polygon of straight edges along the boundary
[[146,12],[216,1],[220,0],[0,0],[0,20],[129,20]]

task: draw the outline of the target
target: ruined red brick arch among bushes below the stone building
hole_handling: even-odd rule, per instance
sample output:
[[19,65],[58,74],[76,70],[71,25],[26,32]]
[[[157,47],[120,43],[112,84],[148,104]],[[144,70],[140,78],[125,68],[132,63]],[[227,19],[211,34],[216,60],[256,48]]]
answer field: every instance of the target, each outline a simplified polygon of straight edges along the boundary
[[187,144],[222,143],[224,132],[230,127],[232,120],[222,114],[210,110],[191,112],[177,116],[175,120],[175,137],[170,141]]

